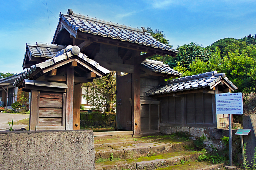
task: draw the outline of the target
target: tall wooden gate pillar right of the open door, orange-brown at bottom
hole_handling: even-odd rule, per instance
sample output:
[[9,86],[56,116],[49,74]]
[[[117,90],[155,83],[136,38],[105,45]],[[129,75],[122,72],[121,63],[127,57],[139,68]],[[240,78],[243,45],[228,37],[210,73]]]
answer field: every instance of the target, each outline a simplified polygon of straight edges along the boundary
[[132,74],[132,130],[133,134],[140,134],[140,69],[139,63],[134,60],[134,73]]

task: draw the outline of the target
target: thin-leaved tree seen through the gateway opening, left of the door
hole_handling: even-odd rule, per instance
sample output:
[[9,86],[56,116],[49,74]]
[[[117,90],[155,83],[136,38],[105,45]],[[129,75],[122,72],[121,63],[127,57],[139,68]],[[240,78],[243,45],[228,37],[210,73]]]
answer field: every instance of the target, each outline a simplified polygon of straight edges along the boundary
[[84,87],[90,87],[89,93],[92,95],[83,95],[94,109],[102,109],[103,112],[113,112],[116,109],[116,76],[115,71],[101,78],[96,78],[93,82],[83,83]]

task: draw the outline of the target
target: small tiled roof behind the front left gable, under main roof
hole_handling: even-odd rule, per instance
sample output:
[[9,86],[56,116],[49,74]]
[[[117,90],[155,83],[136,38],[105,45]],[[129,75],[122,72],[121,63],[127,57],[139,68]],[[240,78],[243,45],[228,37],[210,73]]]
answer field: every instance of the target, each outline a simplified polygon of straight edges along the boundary
[[45,57],[48,59],[56,56],[63,48],[66,48],[66,46],[41,42],[36,42],[36,44],[26,44],[26,52],[28,52],[30,56]]

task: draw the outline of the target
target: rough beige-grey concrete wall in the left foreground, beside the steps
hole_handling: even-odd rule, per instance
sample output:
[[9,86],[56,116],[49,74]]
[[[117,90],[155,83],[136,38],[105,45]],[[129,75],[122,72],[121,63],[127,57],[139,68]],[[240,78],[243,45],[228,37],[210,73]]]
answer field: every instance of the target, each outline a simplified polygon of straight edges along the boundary
[[95,170],[92,130],[0,132],[0,169]]

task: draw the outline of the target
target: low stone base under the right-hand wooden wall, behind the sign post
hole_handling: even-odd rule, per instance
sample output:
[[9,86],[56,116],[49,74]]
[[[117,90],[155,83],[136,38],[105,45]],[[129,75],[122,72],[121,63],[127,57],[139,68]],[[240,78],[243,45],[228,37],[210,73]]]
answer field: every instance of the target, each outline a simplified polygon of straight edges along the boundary
[[[240,145],[239,135],[235,135],[237,130],[232,130],[232,150],[236,151]],[[206,139],[203,144],[208,150],[217,149],[224,150],[226,146],[220,139],[222,136],[229,136],[228,129],[215,129],[215,128],[197,128],[197,127],[171,127],[171,126],[160,126],[160,132],[163,134],[172,134],[177,132],[186,133],[192,140],[197,140],[204,135]]]

